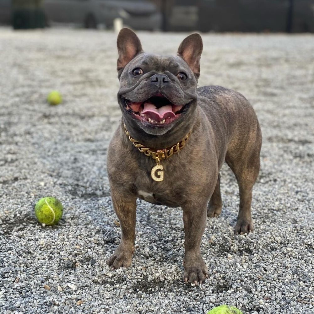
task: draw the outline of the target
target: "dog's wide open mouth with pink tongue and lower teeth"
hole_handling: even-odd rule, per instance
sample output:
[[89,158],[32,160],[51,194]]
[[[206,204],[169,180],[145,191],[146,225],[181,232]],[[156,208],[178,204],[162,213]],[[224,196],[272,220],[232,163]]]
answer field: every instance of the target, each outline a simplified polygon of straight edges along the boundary
[[124,99],[126,110],[142,123],[164,126],[170,124],[186,111],[186,105],[172,104],[165,96],[156,95],[143,102]]

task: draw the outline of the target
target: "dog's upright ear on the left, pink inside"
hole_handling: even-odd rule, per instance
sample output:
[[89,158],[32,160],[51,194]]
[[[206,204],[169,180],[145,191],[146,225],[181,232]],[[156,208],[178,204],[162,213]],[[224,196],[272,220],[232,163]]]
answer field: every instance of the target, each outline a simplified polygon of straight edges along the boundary
[[117,70],[121,74],[123,68],[136,56],[138,53],[143,52],[142,45],[138,36],[128,28],[120,30],[118,39],[118,61]]

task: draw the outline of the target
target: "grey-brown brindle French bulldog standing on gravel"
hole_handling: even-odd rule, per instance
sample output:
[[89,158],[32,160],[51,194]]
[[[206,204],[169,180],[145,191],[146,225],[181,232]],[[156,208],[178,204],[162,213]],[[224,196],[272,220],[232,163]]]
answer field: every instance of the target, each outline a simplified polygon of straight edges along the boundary
[[[236,91],[220,86],[197,88],[203,50],[200,35],[185,38],[174,57],[143,52],[137,35],[127,28],[120,31],[117,46],[122,122],[108,149],[107,168],[122,235],[108,264],[112,269],[131,265],[136,199],[142,198],[183,209],[183,278],[202,283],[208,271],[201,256],[201,239],[206,216],[221,213],[219,171],[224,161],[240,190],[235,233],[253,231],[252,187],[259,172],[262,143],[257,116]],[[156,159],[177,143],[172,151],[176,154],[168,150],[169,158]],[[134,144],[143,145],[139,146],[144,147],[142,151],[161,153],[153,154],[154,160]],[[158,164],[163,171],[154,173],[152,168]]]

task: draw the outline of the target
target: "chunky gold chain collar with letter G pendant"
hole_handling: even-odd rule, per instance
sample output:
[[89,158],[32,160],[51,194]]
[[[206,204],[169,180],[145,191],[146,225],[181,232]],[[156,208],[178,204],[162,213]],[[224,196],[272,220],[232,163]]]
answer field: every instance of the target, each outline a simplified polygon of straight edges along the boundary
[[170,148],[158,149],[158,150],[154,151],[154,150],[151,150],[151,149],[145,147],[144,145],[138,143],[138,141],[136,139],[131,137],[125,124],[124,124],[124,129],[125,129],[125,134],[128,136],[130,142],[132,142],[133,145],[141,153],[144,153],[148,157],[149,156],[152,157],[156,161],[157,165],[154,166],[154,168],[151,171],[151,177],[155,181],[163,181],[164,180],[164,172],[163,171],[157,172],[158,177],[155,175],[156,170],[158,170],[158,169],[163,170],[164,169],[164,167],[162,165],[160,165],[160,160],[167,159],[167,158],[171,157],[173,154],[178,153],[180,151],[180,149],[183,149],[183,147],[185,146],[185,141],[189,138],[189,136],[191,134],[191,131],[190,131],[189,133],[187,133],[187,135],[180,142],[176,143],[175,145],[171,146]]

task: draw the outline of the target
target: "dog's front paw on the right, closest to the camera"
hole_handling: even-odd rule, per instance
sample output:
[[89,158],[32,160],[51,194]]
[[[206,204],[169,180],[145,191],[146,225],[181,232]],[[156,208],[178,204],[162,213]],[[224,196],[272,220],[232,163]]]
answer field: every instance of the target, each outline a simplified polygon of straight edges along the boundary
[[201,284],[206,280],[206,278],[208,278],[208,270],[201,256],[199,256],[194,262],[185,258],[183,266],[183,279],[185,282],[189,282],[191,284]]

